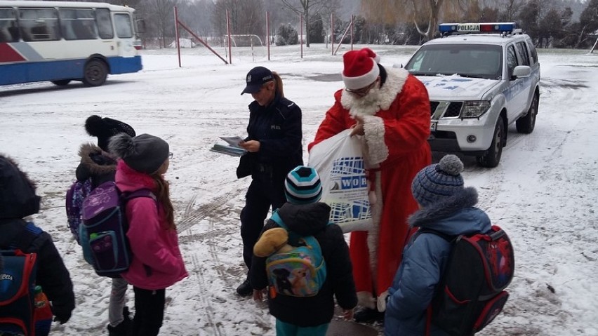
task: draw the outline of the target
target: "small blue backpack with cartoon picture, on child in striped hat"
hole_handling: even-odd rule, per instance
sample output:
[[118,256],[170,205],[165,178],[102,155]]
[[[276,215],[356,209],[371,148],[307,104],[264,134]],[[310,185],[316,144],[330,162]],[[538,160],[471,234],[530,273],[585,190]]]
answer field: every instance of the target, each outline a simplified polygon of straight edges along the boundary
[[[288,231],[277,211],[270,219]],[[320,244],[314,236],[298,236],[293,231],[288,231],[288,243],[291,250],[274,253],[266,259],[270,297],[317,295],[326,281],[326,262]]]

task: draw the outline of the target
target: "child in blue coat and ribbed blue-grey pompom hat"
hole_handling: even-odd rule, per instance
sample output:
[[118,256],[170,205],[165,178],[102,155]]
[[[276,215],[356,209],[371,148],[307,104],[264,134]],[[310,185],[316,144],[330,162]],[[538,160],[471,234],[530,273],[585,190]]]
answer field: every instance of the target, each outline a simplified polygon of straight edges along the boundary
[[[463,187],[462,171],[463,163],[452,154],[420,170],[411,184],[420,210],[409,217],[410,227],[432,229],[447,236],[491,229],[488,215],[474,207],[477,204],[476,189]],[[437,234],[423,232],[413,235],[388,289],[384,335],[428,335],[426,309],[437,292],[450,253],[451,243]],[[429,335],[447,334],[431,324]]]

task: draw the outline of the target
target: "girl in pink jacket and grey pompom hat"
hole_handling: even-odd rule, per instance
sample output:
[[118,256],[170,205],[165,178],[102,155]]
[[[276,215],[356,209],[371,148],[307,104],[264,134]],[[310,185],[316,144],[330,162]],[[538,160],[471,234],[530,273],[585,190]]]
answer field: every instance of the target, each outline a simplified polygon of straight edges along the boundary
[[135,292],[133,336],[155,336],[164,319],[166,288],[188,276],[178,248],[168,182],[164,180],[171,153],[166,141],[148,134],[115,135],[109,149],[120,158],[115,177],[119,190],[145,188],[155,196],[138,197],[126,204],[133,260],[122,274]]

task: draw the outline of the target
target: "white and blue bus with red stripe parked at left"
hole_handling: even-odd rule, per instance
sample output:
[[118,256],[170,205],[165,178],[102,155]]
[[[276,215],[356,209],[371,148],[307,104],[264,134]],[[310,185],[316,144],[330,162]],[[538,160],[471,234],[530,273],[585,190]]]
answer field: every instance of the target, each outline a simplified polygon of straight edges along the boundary
[[96,2],[0,0],[0,85],[138,72],[135,10]]

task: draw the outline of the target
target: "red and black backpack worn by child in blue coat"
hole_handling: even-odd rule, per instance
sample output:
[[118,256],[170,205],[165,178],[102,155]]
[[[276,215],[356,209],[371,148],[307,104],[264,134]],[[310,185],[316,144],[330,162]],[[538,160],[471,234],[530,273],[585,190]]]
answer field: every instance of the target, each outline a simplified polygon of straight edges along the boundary
[[474,335],[493,321],[509,297],[505,288],[515,267],[509,236],[496,225],[485,234],[467,236],[449,236],[427,228],[418,234],[425,232],[452,244],[437,293],[427,309],[427,326],[431,322],[449,335]]

